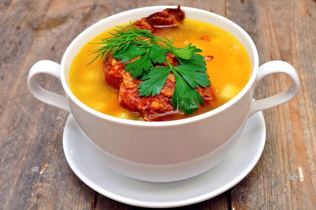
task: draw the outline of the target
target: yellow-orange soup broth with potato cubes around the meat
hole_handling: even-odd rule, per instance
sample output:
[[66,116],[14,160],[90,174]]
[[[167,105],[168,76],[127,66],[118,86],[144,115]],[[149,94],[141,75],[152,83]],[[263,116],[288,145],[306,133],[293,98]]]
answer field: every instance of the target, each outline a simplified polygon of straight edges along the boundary
[[[103,62],[101,58],[91,62],[93,55],[89,52],[96,49],[101,38],[109,37],[106,31],[85,44],[72,62],[69,72],[69,83],[74,95],[88,107],[114,117],[138,120],[139,116],[120,107],[118,90],[104,82]],[[202,56],[213,56],[206,62],[206,73],[216,89],[216,101],[210,106],[199,108],[193,115],[180,115],[187,118],[216,109],[236,96],[246,85],[250,77],[250,61],[241,43],[226,31],[203,22],[185,19],[177,28],[165,28],[157,33],[159,37],[174,37],[176,47],[189,43],[200,48]]]

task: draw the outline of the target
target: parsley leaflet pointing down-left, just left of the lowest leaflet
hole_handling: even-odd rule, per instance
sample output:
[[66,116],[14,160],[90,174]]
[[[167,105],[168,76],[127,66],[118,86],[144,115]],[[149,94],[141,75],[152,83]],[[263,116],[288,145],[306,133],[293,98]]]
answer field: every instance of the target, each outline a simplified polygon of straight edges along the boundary
[[167,78],[170,74],[171,67],[155,67],[150,71],[144,72],[139,79],[145,80],[141,82],[137,87],[140,88],[139,95],[152,96],[160,93],[164,87]]

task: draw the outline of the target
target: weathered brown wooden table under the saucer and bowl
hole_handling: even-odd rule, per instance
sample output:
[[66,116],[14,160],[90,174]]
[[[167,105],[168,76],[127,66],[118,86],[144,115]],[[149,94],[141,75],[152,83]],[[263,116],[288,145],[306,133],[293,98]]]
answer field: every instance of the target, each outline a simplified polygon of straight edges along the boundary
[[[264,111],[267,142],[250,174],[217,197],[180,208],[316,209],[315,0],[0,1],[0,209],[138,209],[98,194],[77,178],[62,145],[69,113],[35,99],[26,79],[39,60],[60,63],[70,42],[102,18],[178,4],[236,22],[254,40],[260,64],[289,62],[301,81],[295,99]],[[63,94],[57,79],[39,80]],[[289,84],[284,75],[269,76],[255,98]]]

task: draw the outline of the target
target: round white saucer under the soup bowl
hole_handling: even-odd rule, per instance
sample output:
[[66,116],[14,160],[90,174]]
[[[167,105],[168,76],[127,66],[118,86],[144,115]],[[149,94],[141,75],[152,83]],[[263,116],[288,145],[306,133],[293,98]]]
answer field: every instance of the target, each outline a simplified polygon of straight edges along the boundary
[[176,207],[215,197],[240,182],[256,165],[266,142],[262,113],[246,122],[228,156],[209,171],[182,181],[152,183],[128,178],[108,168],[96,145],[81,134],[69,115],[63,136],[66,159],[74,173],[98,193],[130,205]]

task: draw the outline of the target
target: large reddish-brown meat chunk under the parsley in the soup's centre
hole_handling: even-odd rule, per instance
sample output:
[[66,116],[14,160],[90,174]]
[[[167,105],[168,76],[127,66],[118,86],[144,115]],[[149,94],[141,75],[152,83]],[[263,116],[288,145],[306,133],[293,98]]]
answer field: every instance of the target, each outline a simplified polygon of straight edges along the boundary
[[[132,59],[126,63],[134,62],[138,58]],[[173,54],[167,54],[166,60],[173,66],[180,65],[177,57]],[[167,81],[159,95],[139,96],[138,85],[140,80],[134,79],[129,72],[125,72],[125,64],[117,61],[111,54],[108,55],[104,63],[104,77],[107,84],[119,90],[120,105],[131,112],[139,113],[145,121],[152,121],[153,117],[164,114],[182,114],[174,110],[171,102],[173,92],[176,87],[175,76],[169,74]],[[166,63],[158,66],[168,66]],[[203,97],[203,103],[207,104],[215,100],[214,92],[210,86],[196,88],[196,91]]]

